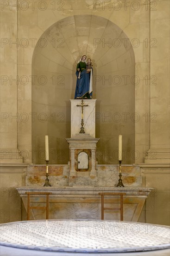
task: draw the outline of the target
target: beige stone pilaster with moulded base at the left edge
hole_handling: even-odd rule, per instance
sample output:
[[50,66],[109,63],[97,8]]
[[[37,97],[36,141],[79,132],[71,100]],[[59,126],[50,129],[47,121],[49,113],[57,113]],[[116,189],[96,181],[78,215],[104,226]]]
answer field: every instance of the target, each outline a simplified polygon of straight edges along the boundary
[[0,47],[0,162],[23,162],[19,155],[17,128],[17,1],[1,3]]

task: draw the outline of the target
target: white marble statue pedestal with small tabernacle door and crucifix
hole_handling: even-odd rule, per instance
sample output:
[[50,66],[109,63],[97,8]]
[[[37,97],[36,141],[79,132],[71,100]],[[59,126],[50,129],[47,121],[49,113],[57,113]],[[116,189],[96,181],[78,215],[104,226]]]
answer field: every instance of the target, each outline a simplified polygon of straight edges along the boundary
[[[77,176],[84,184],[93,186],[96,175],[95,101],[71,101],[71,138],[66,139],[70,149],[69,184],[78,185]],[[84,133],[80,133],[84,131]],[[97,179],[97,177],[96,177]]]

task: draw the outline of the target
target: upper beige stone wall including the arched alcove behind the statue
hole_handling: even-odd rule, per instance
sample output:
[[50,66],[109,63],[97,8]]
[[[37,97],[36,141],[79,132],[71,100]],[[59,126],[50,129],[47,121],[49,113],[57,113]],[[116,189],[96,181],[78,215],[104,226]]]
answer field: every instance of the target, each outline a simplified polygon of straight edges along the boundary
[[[35,154],[38,154],[39,150],[43,148],[43,136],[46,133],[49,135],[54,134],[57,127],[56,137],[50,138],[51,154],[54,156],[53,163],[63,164],[69,161],[69,151],[64,141],[66,137],[69,137],[70,129],[68,102],[69,98],[74,96],[76,61],[79,55],[87,50],[88,54],[94,56],[94,61],[96,61],[96,63],[94,62],[94,70],[96,71],[97,77],[95,79],[97,80],[94,85],[94,96],[99,99],[96,109],[99,114],[96,122],[96,136],[101,138],[98,148],[98,162],[105,164],[108,161],[116,163],[117,159],[114,151],[117,148],[119,134],[124,136],[123,147],[126,151],[124,161],[127,163],[143,162],[148,149],[150,149],[149,157],[151,161],[155,153],[159,158],[161,158],[160,155],[162,154],[167,155],[168,158],[169,141],[167,136],[169,131],[168,124],[170,123],[167,112],[169,104],[169,1],[151,0],[151,6],[149,6],[149,1],[137,1],[136,3],[132,1],[126,4],[124,1],[117,3],[108,1],[107,5],[102,1],[63,0],[60,4],[56,2],[55,5],[46,0],[45,6],[43,4],[38,5],[38,3],[32,6],[30,2],[28,5],[22,4],[20,6],[19,3],[18,1],[18,11],[15,7],[16,0],[12,0],[10,3],[3,3],[1,8],[1,37],[3,41],[0,50],[1,74],[3,77],[0,104],[3,112],[3,121],[1,122],[0,132],[1,148],[8,150],[3,152],[3,158],[10,158],[10,149],[15,150],[13,158],[16,158],[19,155],[17,151],[19,149],[22,152],[24,162],[43,163],[43,155],[40,154],[37,161]],[[83,27],[83,20],[82,24],[77,20],[77,17],[80,17],[78,15],[89,17],[90,24],[92,24],[91,30],[87,26],[88,20],[84,19],[86,25]],[[40,62],[34,63],[36,58],[35,56],[33,58],[33,53],[36,53],[35,48],[38,43],[40,50],[45,52],[48,48],[44,47],[44,41],[39,41],[39,39],[42,39],[47,31],[50,31],[49,28],[53,28],[54,24],[63,22],[64,26],[64,22],[67,19],[74,20],[74,24],[70,22],[69,26],[65,26],[62,34],[56,32],[55,37],[53,34],[49,35],[52,37],[50,47],[54,39],[57,43],[55,45],[57,48],[52,47],[55,50],[57,49],[55,54],[50,54],[53,51],[50,51],[49,54],[47,52],[46,55],[42,52],[39,59]],[[97,22],[93,19],[96,19]],[[106,20],[106,22],[103,22],[103,20]],[[112,24],[113,29],[109,34],[109,27]],[[74,41],[67,41],[67,39],[69,40],[68,36],[73,33],[73,30],[71,30],[71,27],[74,27],[73,25],[76,26],[78,40],[76,44]],[[108,29],[106,29],[107,26]],[[103,34],[96,34],[98,30],[100,30],[100,33],[103,31]],[[86,35],[83,36],[81,34],[82,31],[83,33],[86,32]],[[91,39],[88,36],[90,35],[89,31],[91,31]],[[49,37],[49,40],[51,37]],[[88,45],[85,43],[87,37],[90,39]],[[107,37],[112,41],[111,46],[110,43],[107,44]],[[63,47],[63,42],[57,41],[60,38],[64,38],[64,48],[58,47],[58,44],[61,43],[62,45],[60,46]],[[74,36],[74,38],[76,37]],[[118,40],[113,41],[115,38]],[[127,38],[128,40],[126,40]],[[127,90],[129,77],[127,77],[127,83],[122,84],[126,75],[129,75],[130,78],[134,75],[129,70],[130,67],[133,68],[133,65],[131,65],[133,62],[132,53],[128,51],[129,41],[135,58],[135,97],[133,89],[132,93]],[[121,51],[121,47],[117,47],[117,42],[121,43],[121,47],[124,46],[123,42],[126,42],[127,46],[124,49],[122,48]],[[123,54],[124,50],[126,50],[125,54]],[[99,54],[97,54],[97,51],[99,51]],[[72,57],[69,57],[69,53],[71,53]],[[99,58],[100,54],[103,55],[102,58]],[[124,57],[121,57],[121,54]],[[50,56],[51,59],[49,59]],[[110,71],[110,65],[106,62],[109,56],[112,56],[113,60]],[[32,67],[34,67],[33,70]],[[47,70],[50,70],[51,73],[46,74]],[[67,72],[64,72],[64,70],[67,70]],[[70,73],[68,73],[69,70]],[[54,78],[51,79],[54,74],[58,74],[57,81],[54,81]],[[58,78],[59,74],[62,74],[65,79],[64,85],[60,81],[63,78]],[[18,82],[16,81],[17,75]],[[32,75],[38,75],[38,77],[39,75],[46,76],[49,86],[49,103],[46,101],[47,94],[43,89],[44,79],[39,79],[38,82],[38,77],[33,79]],[[70,84],[68,84],[68,75]],[[119,84],[115,80],[114,84],[112,84],[112,81],[111,85],[109,85],[110,82],[106,80],[109,76],[113,79],[115,75],[118,75],[118,79],[121,77],[122,83]],[[37,82],[39,87],[42,86],[42,90],[39,93],[37,91],[36,94]],[[56,83],[56,86],[52,88],[51,82]],[[62,96],[53,98],[54,93],[56,95],[62,94]],[[128,93],[131,96],[133,95],[135,106]],[[115,95],[118,95],[118,97],[114,98]],[[127,98],[132,102],[132,106],[129,105]],[[40,105],[35,105],[35,99],[39,101]],[[64,105],[59,103],[61,100],[65,102]],[[50,108],[50,106],[53,107]],[[44,115],[38,115],[40,110],[42,111],[41,113],[45,113],[48,116],[50,122],[44,121]],[[136,114],[133,115],[133,112]],[[54,113],[57,113],[57,116],[54,116]],[[115,113],[119,115],[115,115]],[[135,148],[131,148],[130,145],[133,144],[134,139],[132,130],[134,128]],[[41,132],[38,134],[39,131]],[[103,131],[105,132],[103,133]],[[158,135],[160,132],[161,136]],[[37,152],[31,152],[32,145],[36,147],[35,150]],[[58,157],[63,151],[66,154]]]

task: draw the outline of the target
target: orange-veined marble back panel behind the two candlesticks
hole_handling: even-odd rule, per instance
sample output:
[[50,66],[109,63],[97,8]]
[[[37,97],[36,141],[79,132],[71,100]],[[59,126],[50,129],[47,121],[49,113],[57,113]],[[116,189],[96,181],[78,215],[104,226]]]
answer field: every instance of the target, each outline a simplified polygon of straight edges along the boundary
[[[74,149],[73,149],[74,151]],[[73,152],[74,153],[74,152]],[[71,164],[73,171],[69,173],[69,165],[49,165],[49,179],[52,186],[92,186],[92,187],[114,187],[119,180],[118,165],[96,165],[89,171],[75,172],[75,156]],[[92,159],[93,160],[93,159]],[[92,161],[93,163],[94,161]],[[72,167],[71,167],[72,168]],[[30,165],[26,176],[26,184],[28,186],[44,185],[45,165]],[[143,184],[142,176],[140,176],[140,168],[138,166],[122,166],[122,180],[125,187],[141,187]]]

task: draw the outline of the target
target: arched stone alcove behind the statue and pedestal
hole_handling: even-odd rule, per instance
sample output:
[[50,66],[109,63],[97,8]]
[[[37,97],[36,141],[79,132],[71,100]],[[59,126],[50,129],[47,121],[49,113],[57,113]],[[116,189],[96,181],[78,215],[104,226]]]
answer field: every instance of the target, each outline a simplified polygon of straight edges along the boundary
[[[70,101],[76,88],[76,63],[92,59],[96,98],[98,163],[117,163],[118,135],[123,135],[124,163],[133,163],[135,138],[135,58],[126,34],[113,22],[75,15],[49,27],[32,57],[32,149],[34,163],[44,163],[44,135],[49,135],[50,163],[67,164]],[[94,118],[95,120],[95,118]]]

